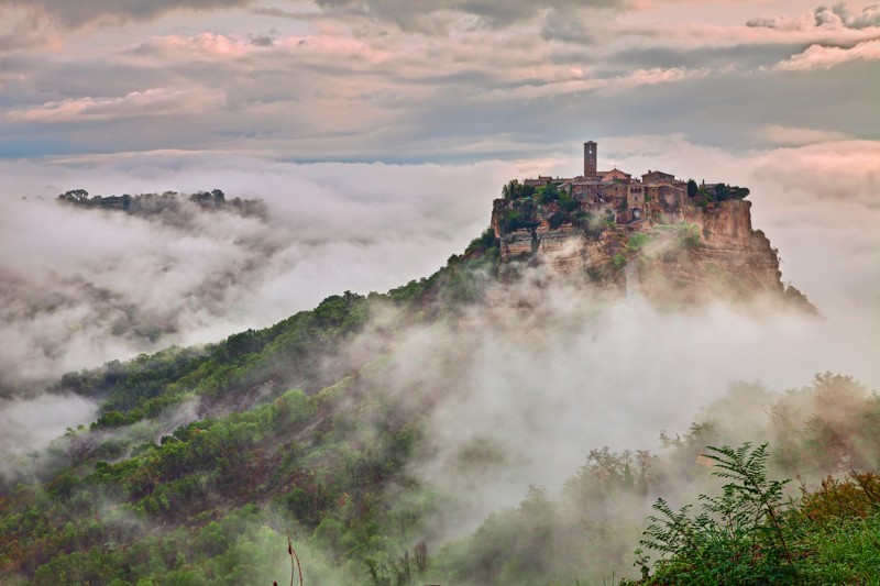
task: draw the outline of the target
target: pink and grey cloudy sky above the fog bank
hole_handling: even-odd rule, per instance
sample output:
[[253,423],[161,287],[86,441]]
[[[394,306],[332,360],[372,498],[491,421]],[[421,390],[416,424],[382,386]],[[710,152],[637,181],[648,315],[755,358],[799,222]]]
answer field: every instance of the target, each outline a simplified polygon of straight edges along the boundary
[[386,163],[880,137],[880,4],[0,0],[0,155]]

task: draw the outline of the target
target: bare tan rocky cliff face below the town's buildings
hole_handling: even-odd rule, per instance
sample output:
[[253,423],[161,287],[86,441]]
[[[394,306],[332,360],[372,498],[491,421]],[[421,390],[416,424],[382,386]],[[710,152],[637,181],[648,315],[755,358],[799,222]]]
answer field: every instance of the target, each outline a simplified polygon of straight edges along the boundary
[[[502,261],[544,264],[561,274],[587,274],[598,286],[624,292],[638,278],[641,296],[659,307],[711,298],[800,297],[782,285],[777,251],[751,225],[751,202],[685,206],[640,222],[615,225],[584,220],[504,232],[505,206],[496,201],[493,222]],[[635,265],[635,267],[634,267]],[[803,302],[809,302],[803,299]]]

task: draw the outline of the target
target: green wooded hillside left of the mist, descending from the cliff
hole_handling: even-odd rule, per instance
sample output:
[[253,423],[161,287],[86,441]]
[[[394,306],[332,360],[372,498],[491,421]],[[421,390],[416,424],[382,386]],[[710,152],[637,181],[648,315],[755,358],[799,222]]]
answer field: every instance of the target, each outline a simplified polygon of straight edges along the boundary
[[[267,555],[285,524],[300,531],[310,575],[318,559],[334,566],[328,583],[355,583],[370,556],[404,555],[424,540],[416,531],[431,506],[405,473],[419,416],[350,374],[376,354],[353,362],[337,352],[376,308],[396,328],[479,299],[497,257],[487,230],[469,254],[388,294],[345,291],[218,344],[65,375],[54,390],[96,397],[101,411],[90,428],[68,430],[50,482],[15,488],[0,478],[0,582],[271,584]],[[346,416],[352,400],[372,414]],[[193,405],[218,414],[164,427]],[[235,524],[255,501],[253,523]],[[150,527],[176,529],[144,540]],[[411,551],[413,575],[425,573],[427,545]]]

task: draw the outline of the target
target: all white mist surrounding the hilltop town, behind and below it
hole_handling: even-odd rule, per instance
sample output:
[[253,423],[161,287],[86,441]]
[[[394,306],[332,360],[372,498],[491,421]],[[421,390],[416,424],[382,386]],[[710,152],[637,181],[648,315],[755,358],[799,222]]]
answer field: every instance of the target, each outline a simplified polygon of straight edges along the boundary
[[[435,520],[438,539],[468,534],[531,485],[560,489],[592,449],[656,449],[660,431],[685,431],[733,380],[785,389],[831,371],[880,388],[880,209],[870,161],[833,192],[816,146],[738,155],[680,142],[667,151],[675,158],[648,150],[650,137],[608,143],[608,156],[629,153],[618,159],[623,168],[642,170],[657,155],[650,168],[684,177],[698,169],[707,181],[750,187],[754,225],[780,248],[783,280],[821,317],[723,303],[684,313],[634,309],[583,283],[538,274],[473,308],[469,319],[482,325],[439,322],[400,333],[376,384],[431,401],[429,457],[413,473],[459,511]],[[861,148],[837,145],[833,162]],[[37,165],[2,169],[12,180],[0,211],[0,372],[7,396],[30,400],[6,401],[0,412],[43,416],[33,419],[38,432],[4,427],[4,454],[46,445],[94,416],[88,401],[68,409],[72,399],[41,397],[42,382],[266,327],[342,290],[383,291],[429,275],[486,226],[505,180],[578,166],[564,156],[407,167],[157,156],[148,165],[123,158],[51,168],[53,185]],[[54,201],[78,187],[91,195],[218,187],[228,198],[262,199],[267,215],[191,207],[185,222],[158,221]],[[370,344],[348,352],[356,357]],[[473,453],[497,460],[466,464]]]

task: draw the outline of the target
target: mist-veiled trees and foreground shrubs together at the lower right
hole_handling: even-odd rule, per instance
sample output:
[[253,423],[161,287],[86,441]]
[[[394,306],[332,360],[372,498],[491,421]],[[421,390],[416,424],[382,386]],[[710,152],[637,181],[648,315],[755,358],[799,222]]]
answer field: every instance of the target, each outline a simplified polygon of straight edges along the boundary
[[[724,445],[743,421],[736,406],[747,405],[771,414],[769,427],[750,433],[772,444]],[[634,564],[645,567],[642,579],[622,585],[873,584],[880,478],[826,477],[799,496],[773,476],[817,484],[840,458],[876,468],[880,397],[826,373],[781,396],[737,383],[708,412],[684,435],[662,434],[662,457],[591,451],[559,496],[536,487],[517,509],[496,512],[444,548],[437,563],[455,584],[607,584]],[[673,499],[684,508],[669,505]],[[656,518],[646,528],[651,501]],[[653,562],[628,549],[642,532],[642,548],[660,554]]]

